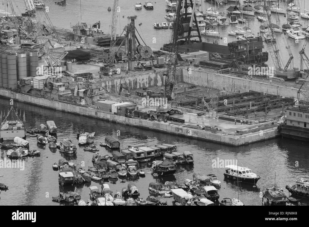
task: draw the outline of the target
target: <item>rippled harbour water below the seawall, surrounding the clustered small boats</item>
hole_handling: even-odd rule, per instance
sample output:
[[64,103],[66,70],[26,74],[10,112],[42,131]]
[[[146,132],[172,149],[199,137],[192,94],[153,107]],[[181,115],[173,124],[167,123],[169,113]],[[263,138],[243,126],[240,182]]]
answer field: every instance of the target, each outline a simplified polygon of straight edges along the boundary
[[[7,113],[10,107],[9,104],[8,99],[2,98],[0,100],[0,111]],[[274,184],[276,181],[276,184],[283,188],[286,195],[288,195],[289,192],[285,189],[287,184],[294,183],[293,180],[297,178],[309,177],[308,144],[302,141],[276,138],[235,148],[159,133],[151,131],[151,129],[145,130],[44,109],[30,104],[14,102],[14,107],[15,110],[16,108],[21,110],[22,114],[25,111],[26,128],[39,128],[40,124],[45,124],[47,120],[54,120],[58,128],[57,141],[60,142],[65,137],[70,138],[73,144],[77,146],[77,154],[71,156],[60,153],[58,149],[52,151],[48,148],[48,145],[39,145],[36,137],[29,137],[28,135],[26,140],[29,141],[30,149],[40,151],[41,156],[24,158],[24,170],[19,168],[0,169],[0,175],[4,175],[1,177],[0,183],[4,183],[9,187],[9,190],[1,191],[1,205],[59,205],[59,203],[52,201],[52,196],[57,196],[60,190],[61,192],[76,191],[81,195],[82,200],[87,201],[89,199],[89,187],[97,186],[100,189],[99,182],[91,181],[91,183],[68,185],[60,188],[58,171],[52,168],[52,164],[54,162],[58,163],[60,158],[66,158],[76,164],[84,163],[86,169],[88,166],[93,166],[91,162],[93,153],[84,151],[83,147],[78,146],[77,133],[83,130],[85,132],[95,132],[94,144],[99,147],[98,152],[101,154],[112,154],[112,150],[99,146],[100,142],[104,142],[107,132],[120,141],[122,149],[127,148],[128,145],[141,143],[148,146],[168,143],[177,145],[179,153],[186,150],[193,153],[194,165],[177,166],[174,176],[154,177],[151,174],[150,166],[142,164],[141,168],[145,170],[145,177],[135,179],[128,177],[127,179],[106,182],[110,185],[113,194],[121,191],[123,187],[127,187],[128,183],[134,182],[141,194],[140,197],[146,199],[150,195],[148,191],[150,182],[164,184],[165,181],[176,181],[183,183],[186,179],[192,179],[194,171],[199,171],[203,174],[215,174],[218,176],[221,181],[221,188],[218,191],[220,198],[237,198],[239,194],[239,199],[245,205],[267,205],[265,200],[262,203],[261,198],[261,191],[265,185]],[[0,151],[0,158],[6,158],[6,150]],[[257,187],[241,182],[239,183],[240,187],[237,187],[237,183],[225,180],[223,178],[224,164],[220,163],[226,160],[237,162],[239,166],[248,166],[248,168],[252,169],[252,172],[259,175],[260,180],[257,182]],[[172,198],[168,198],[167,201],[169,205],[172,205]],[[303,199],[301,201],[302,205],[307,205],[307,203],[309,203],[309,200]]]

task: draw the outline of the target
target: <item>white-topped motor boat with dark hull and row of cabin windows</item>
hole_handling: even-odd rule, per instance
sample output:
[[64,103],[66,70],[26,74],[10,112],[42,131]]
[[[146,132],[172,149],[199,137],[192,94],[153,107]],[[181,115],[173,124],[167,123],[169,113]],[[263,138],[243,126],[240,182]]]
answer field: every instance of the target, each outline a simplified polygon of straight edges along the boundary
[[225,166],[225,168],[226,170],[224,173],[224,177],[228,179],[236,180],[238,177],[239,180],[243,183],[253,184],[256,184],[256,182],[260,179],[260,176],[252,173],[252,170],[248,169],[248,167],[229,165]]

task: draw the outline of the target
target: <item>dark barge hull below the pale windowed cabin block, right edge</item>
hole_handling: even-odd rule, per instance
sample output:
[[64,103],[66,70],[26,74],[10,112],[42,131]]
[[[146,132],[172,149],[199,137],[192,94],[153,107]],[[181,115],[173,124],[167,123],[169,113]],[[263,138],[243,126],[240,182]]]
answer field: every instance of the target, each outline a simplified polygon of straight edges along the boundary
[[282,137],[309,142],[308,128],[300,128],[297,126],[281,124],[279,130]]

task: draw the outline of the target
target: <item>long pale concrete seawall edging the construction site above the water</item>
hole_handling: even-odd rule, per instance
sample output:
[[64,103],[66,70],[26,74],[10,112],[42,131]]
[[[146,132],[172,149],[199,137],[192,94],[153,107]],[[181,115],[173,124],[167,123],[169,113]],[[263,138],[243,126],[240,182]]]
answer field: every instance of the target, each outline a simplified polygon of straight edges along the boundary
[[97,111],[88,107],[81,107],[74,104],[61,103],[54,100],[36,98],[30,95],[24,95],[15,93],[9,90],[0,89],[0,96],[9,99],[15,99],[20,102],[30,103],[44,108],[55,109],[59,111],[64,111],[68,113],[73,113],[77,115],[98,118],[101,120],[106,120],[110,122],[115,122],[119,124],[126,124],[129,126],[152,129],[164,133],[175,134],[179,136],[188,137],[190,139],[199,139],[203,141],[211,141],[224,145],[240,146],[247,145],[250,143],[265,141],[272,139],[279,135],[277,132],[277,126],[263,130],[263,132],[254,132],[246,135],[226,135],[216,132],[208,132],[200,129],[185,128],[183,126],[178,126],[170,123],[142,120],[137,118],[128,118],[124,116],[117,116],[111,113]]

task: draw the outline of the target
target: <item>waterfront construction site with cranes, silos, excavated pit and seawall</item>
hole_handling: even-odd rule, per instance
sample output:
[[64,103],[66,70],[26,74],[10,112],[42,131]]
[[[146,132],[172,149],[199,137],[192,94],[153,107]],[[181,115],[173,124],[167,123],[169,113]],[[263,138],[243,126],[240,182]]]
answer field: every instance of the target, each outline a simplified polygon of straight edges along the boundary
[[[292,55],[281,66],[276,44],[269,44],[276,75],[250,77],[246,69],[252,65],[246,59],[240,63],[235,55],[231,59],[191,43],[192,37],[201,41],[199,29],[192,28],[197,23],[192,0],[179,1],[170,44],[163,51],[146,45],[135,29],[136,15],[128,17],[125,34],[116,35],[118,0],[109,35],[102,34],[99,22],[90,27],[78,23],[73,32],[55,28],[32,0],[24,0],[26,14],[14,16],[7,2],[12,16],[1,20],[0,47],[1,95],[7,98],[233,146],[279,136],[285,108],[308,98],[307,71],[288,69]],[[243,41],[233,44],[240,50]],[[304,48],[301,54],[308,67]],[[295,75],[296,83],[287,80]]]

